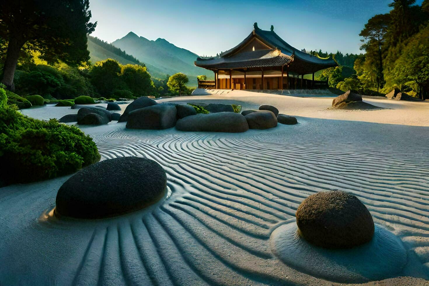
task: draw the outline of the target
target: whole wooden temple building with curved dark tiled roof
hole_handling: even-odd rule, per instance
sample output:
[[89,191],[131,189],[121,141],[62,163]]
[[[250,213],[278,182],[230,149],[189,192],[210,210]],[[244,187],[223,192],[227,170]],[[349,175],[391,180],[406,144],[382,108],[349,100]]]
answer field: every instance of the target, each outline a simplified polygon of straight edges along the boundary
[[[320,58],[293,48],[273,26],[265,31],[257,23],[239,45],[218,57],[199,57],[195,65],[215,72],[210,84],[215,89],[248,90],[318,88],[326,82],[314,81],[314,72],[338,66],[332,57]],[[303,78],[307,74],[313,75],[312,80]]]

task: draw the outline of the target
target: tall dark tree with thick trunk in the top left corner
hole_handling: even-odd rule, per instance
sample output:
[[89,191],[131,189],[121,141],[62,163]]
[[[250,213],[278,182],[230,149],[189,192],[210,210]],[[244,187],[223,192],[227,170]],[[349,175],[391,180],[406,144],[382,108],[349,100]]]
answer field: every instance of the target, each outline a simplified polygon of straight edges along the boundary
[[14,89],[13,78],[22,47],[28,44],[48,63],[89,60],[86,34],[90,23],[89,0],[19,0],[0,2],[0,38],[7,52],[2,82]]

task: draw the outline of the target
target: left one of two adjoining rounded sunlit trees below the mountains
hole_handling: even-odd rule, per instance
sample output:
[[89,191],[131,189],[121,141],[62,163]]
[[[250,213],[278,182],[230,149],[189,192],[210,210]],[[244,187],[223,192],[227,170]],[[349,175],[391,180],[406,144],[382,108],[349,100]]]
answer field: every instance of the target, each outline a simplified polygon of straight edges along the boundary
[[121,65],[116,60],[107,59],[96,62],[90,75],[91,82],[102,96],[109,96],[116,89],[127,89],[121,82],[119,75]]

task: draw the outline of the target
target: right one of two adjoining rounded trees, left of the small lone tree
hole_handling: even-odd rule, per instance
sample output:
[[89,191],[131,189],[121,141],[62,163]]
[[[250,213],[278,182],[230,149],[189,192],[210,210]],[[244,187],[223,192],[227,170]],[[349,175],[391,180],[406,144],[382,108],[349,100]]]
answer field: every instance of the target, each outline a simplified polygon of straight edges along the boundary
[[154,92],[154,83],[145,66],[127,64],[122,66],[121,80],[134,96],[148,96]]

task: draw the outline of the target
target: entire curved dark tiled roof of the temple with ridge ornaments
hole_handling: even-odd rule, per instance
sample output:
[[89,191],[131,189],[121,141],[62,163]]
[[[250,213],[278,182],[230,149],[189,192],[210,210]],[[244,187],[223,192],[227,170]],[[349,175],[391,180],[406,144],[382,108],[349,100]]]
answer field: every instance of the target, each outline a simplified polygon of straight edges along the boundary
[[[255,38],[262,42],[262,45],[253,51],[248,51],[246,46],[255,41]],[[309,74],[320,69],[338,66],[332,56],[320,58],[292,47],[275,32],[273,26],[270,31],[261,30],[257,23],[254,30],[241,43],[234,48],[221,53],[219,57],[197,58],[195,65],[210,69],[243,69],[260,70],[264,67],[272,67],[280,70],[281,66],[289,66],[291,74]]]

